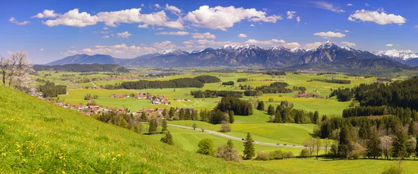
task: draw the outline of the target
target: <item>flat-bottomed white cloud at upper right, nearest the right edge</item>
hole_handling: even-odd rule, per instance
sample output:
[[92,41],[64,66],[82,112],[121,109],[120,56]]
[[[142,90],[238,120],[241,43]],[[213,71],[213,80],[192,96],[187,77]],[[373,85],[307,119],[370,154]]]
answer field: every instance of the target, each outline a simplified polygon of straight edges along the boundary
[[406,18],[401,15],[386,14],[384,11],[355,10],[355,13],[348,17],[348,20],[355,22],[375,22],[376,24],[404,24]]

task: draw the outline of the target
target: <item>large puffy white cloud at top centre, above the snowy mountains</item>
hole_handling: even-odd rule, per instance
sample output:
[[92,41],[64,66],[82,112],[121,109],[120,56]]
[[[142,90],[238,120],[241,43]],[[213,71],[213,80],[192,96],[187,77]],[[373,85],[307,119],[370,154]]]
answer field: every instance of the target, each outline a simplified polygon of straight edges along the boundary
[[255,8],[235,8],[234,6],[222,7],[201,6],[198,10],[187,13],[183,17],[187,22],[201,28],[220,29],[226,31],[235,23],[247,19],[251,22],[272,22],[282,19],[279,15],[267,16],[264,11],[258,11]]

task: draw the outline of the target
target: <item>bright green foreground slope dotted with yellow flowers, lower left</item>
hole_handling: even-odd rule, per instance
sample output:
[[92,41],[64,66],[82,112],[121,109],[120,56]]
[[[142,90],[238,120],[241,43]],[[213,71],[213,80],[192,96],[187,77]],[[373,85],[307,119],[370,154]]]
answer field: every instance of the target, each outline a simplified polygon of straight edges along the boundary
[[0,86],[0,173],[273,173],[197,155]]

